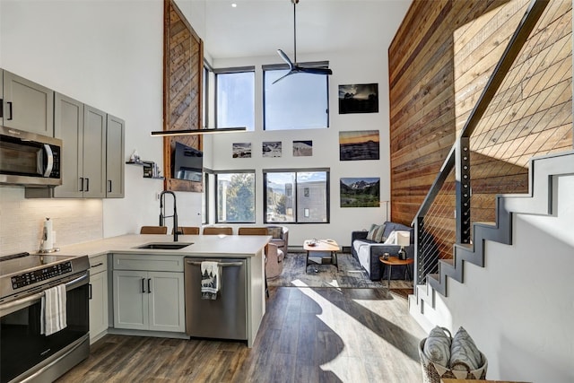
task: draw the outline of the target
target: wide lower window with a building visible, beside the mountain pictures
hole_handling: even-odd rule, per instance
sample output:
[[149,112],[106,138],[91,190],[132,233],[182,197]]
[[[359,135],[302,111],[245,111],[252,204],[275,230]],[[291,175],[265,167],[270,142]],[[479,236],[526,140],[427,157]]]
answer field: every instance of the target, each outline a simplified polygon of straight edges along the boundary
[[329,170],[264,170],[265,222],[328,223]]

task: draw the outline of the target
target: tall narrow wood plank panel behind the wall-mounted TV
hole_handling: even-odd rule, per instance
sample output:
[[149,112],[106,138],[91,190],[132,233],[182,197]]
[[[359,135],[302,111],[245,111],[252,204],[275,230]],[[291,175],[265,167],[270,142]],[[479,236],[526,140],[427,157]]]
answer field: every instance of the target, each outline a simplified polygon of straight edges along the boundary
[[[163,130],[199,129],[204,44],[173,0],[164,0],[163,17]],[[171,178],[171,151],[176,141],[203,150],[201,135],[164,137],[164,188],[201,192],[202,182]]]

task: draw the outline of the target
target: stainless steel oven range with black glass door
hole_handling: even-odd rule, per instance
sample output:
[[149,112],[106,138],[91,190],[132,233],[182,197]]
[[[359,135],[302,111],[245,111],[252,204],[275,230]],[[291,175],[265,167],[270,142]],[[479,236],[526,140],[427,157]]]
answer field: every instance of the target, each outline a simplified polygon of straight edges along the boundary
[[[57,379],[90,353],[87,256],[0,257],[0,381]],[[66,322],[52,335],[40,334],[41,298],[65,284]]]

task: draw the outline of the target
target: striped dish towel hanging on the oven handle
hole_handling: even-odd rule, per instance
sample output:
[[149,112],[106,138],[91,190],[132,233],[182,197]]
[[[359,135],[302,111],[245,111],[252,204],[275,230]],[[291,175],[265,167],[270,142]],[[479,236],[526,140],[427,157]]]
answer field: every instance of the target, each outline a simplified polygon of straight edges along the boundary
[[65,295],[65,284],[51,287],[44,292],[39,316],[40,334],[52,335],[67,326]]

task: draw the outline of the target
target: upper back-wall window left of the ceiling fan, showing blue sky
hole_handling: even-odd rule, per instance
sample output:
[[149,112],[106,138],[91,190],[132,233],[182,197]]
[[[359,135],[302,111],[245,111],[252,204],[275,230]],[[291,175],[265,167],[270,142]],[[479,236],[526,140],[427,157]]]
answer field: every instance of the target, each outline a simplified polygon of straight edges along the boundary
[[215,69],[216,127],[255,126],[255,68]]

